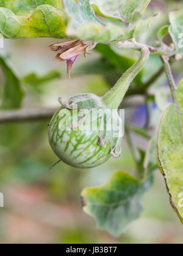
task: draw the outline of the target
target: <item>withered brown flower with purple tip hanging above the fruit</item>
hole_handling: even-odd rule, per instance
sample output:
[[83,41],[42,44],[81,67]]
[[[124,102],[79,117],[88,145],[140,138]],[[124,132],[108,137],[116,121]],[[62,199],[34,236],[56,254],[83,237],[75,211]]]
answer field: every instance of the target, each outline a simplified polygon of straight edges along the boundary
[[49,46],[49,49],[57,52],[56,58],[53,59],[54,61],[66,61],[67,74],[70,78],[70,71],[73,63],[79,55],[86,52],[88,46],[88,43],[84,43],[82,40],[71,39],[54,43]]

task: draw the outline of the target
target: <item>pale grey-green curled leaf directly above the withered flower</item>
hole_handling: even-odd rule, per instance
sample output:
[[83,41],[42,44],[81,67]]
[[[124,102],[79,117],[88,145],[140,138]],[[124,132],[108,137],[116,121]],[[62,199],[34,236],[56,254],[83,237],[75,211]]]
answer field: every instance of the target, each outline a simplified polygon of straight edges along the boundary
[[118,26],[114,23],[102,23],[91,9],[88,0],[75,2],[74,0],[64,0],[66,13],[70,17],[70,24],[66,29],[68,36],[79,37],[82,40],[91,40],[95,42],[110,42],[113,40],[130,39],[137,34],[144,32],[149,28],[156,14],[152,17],[142,20],[137,24],[125,27],[123,23]]

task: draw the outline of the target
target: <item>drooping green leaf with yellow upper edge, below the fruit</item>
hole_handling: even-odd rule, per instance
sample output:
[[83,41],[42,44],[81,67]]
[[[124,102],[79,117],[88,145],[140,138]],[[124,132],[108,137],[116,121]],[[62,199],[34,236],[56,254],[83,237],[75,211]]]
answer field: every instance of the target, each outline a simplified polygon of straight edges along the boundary
[[96,220],[99,229],[119,236],[140,215],[146,185],[123,171],[115,171],[106,185],[82,191],[84,211]]

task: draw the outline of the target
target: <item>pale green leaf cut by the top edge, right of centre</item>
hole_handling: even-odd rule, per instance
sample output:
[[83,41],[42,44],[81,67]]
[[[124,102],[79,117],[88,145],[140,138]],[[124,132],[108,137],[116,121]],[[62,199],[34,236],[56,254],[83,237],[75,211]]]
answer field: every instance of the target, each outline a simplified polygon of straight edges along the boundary
[[96,6],[99,14],[105,17],[117,18],[127,23],[134,19],[137,13],[143,13],[151,0],[90,0]]

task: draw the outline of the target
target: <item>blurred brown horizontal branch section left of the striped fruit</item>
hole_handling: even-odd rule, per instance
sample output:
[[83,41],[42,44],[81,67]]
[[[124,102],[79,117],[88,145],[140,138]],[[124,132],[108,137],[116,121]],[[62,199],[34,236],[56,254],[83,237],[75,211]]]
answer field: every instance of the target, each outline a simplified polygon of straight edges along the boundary
[[0,124],[4,122],[23,122],[49,119],[57,108],[22,108],[18,110],[1,110]]

